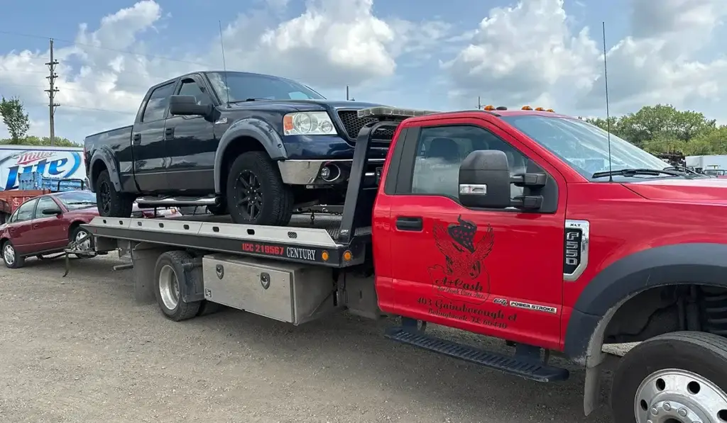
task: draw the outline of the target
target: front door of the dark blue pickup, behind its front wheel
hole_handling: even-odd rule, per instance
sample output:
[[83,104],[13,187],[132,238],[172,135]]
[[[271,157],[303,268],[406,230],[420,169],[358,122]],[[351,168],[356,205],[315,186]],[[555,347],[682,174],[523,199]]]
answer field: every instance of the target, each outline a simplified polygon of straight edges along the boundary
[[[209,91],[196,75],[182,79],[177,94],[195,96],[198,104],[212,104]],[[169,115],[164,135],[169,153],[169,186],[175,190],[212,192],[214,153],[219,141],[214,136],[214,123],[203,116]]]

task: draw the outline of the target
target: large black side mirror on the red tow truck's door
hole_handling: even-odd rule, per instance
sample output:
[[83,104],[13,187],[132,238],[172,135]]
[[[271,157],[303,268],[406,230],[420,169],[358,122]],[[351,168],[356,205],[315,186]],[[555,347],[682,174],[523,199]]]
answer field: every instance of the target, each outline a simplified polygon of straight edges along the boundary
[[510,185],[527,186],[539,191],[545,186],[545,173],[510,176],[507,155],[499,150],[473,151],[459,165],[459,202],[473,208],[520,208],[538,210],[542,195],[510,197]]

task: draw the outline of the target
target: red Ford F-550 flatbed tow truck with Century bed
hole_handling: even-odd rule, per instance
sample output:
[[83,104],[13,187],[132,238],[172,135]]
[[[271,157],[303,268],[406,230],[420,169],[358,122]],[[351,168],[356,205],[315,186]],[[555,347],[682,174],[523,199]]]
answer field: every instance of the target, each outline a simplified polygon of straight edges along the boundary
[[[727,422],[727,181],[530,107],[358,118],[339,213],[84,227],[98,252],[131,256],[137,298],[173,321],[220,304],[292,324],[398,316],[392,340],[537,382],[569,377],[548,360],[568,358],[585,370],[585,414],[603,346],[640,342],[615,370],[615,422]],[[393,136],[367,183],[379,130]],[[427,322],[512,353],[433,337]]]

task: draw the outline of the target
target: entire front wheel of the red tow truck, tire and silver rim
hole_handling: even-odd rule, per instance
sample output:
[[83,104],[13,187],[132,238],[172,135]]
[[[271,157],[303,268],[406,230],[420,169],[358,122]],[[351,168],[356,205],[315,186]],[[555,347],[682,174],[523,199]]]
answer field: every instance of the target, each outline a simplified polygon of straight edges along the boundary
[[615,422],[727,422],[727,339],[672,332],[641,342],[614,374]]

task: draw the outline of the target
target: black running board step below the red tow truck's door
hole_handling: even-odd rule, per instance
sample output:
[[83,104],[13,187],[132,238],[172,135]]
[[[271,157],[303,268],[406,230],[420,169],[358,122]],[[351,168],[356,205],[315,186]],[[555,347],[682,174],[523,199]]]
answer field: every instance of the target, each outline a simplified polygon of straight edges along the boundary
[[387,329],[385,336],[390,340],[414,345],[435,353],[443,354],[459,360],[469,361],[489,367],[490,369],[504,371],[515,376],[524,377],[537,382],[558,382],[569,377],[567,369],[547,366],[531,359],[518,358],[517,356],[506,356],[500,353],[491,353],[481,348],[470,347],[469,345],[458,344],[430,337],[422,332],[414,332],[413,329],[393,327]]

